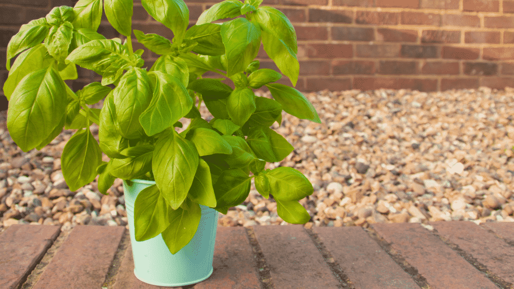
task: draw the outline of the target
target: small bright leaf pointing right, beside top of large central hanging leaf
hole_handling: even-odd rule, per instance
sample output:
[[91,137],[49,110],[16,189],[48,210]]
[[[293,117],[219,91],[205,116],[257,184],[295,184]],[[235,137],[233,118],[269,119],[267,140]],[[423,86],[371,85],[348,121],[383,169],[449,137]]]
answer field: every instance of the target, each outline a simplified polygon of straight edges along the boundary
[[199,156],[214,153],[232,154],[232,147],[221,135],[213,130],[197,128],[190,139],[198,151]]

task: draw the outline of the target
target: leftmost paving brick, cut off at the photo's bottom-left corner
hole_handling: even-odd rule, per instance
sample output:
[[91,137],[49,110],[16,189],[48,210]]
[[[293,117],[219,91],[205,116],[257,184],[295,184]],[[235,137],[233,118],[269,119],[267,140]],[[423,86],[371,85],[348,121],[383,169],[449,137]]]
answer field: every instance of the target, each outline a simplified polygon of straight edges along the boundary
[[0,288],[18,288],[60,232],[61,226],[11,225],[0,234]]

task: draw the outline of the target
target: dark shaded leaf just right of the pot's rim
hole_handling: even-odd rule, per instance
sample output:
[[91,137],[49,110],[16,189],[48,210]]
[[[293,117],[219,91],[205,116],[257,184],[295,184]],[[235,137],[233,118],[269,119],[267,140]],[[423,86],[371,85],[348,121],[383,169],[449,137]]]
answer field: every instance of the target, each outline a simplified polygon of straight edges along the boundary
[[243,203],[250,193],[251,178],[241,169],[222,172],[214,185],[217,202],[215,209],[227,214],[230,207]]

